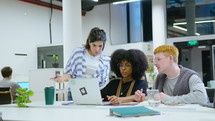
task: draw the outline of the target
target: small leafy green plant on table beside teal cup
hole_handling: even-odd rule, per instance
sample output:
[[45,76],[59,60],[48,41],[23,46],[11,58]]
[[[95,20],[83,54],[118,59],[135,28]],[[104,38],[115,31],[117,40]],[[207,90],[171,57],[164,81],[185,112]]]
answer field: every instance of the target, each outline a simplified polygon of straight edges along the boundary
[[16,90],[19,94],[16,97],[16,104],[18,107],[27,108],[27,103],[31,103],[32,101],[29,100],[29,97],[34,95],[32,90],[28,90],[27,88],[18,88]]

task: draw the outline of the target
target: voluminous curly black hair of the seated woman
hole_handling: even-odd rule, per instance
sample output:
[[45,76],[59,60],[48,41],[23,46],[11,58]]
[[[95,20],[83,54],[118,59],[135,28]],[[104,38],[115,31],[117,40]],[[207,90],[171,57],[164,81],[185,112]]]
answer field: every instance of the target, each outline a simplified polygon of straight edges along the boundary
[[140,80],[145,76],[145,71],[148,68],[148,62],[145,54],[137,49],[118,49],[111,55],[111,71],[113,71],[117,77],[122,77],[119,69],[119,64],[122,61],[128,61],[132,65],[132,78]]

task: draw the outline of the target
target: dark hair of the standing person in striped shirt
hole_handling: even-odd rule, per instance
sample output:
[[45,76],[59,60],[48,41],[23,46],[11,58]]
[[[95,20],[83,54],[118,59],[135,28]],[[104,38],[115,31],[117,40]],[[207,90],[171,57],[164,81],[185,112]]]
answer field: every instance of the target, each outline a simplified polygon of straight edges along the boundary
[[98,27],[95,27],[90,31],[85,44],[85,48],[89,50],[90,49],[89,43],[95,42],[95,41],[102,41],[103,42],[102,50],[104,50],[105,43],[106,43],[106,33],[103,29],[99,29]]

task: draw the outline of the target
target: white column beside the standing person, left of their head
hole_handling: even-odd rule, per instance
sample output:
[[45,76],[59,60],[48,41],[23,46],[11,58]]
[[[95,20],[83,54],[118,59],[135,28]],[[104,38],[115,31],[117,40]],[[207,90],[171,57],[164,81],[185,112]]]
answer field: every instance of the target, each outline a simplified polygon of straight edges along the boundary
[[82,41],[81,0],[63,0],[63,53],[64,67],[74,48]]

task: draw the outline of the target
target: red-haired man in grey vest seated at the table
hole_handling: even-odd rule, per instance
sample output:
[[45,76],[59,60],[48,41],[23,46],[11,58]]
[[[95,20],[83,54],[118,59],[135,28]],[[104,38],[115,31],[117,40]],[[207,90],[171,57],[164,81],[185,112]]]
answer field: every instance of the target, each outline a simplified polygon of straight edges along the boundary
[[[154,51],[154,65],[159,75],[154,84],[159,89],[164,104],[202,104],[208,102],[206,89],[198,74],[178,65],[178,49],[173,45],[161,45]],[[136,92],[140,97],[141,93]]]

